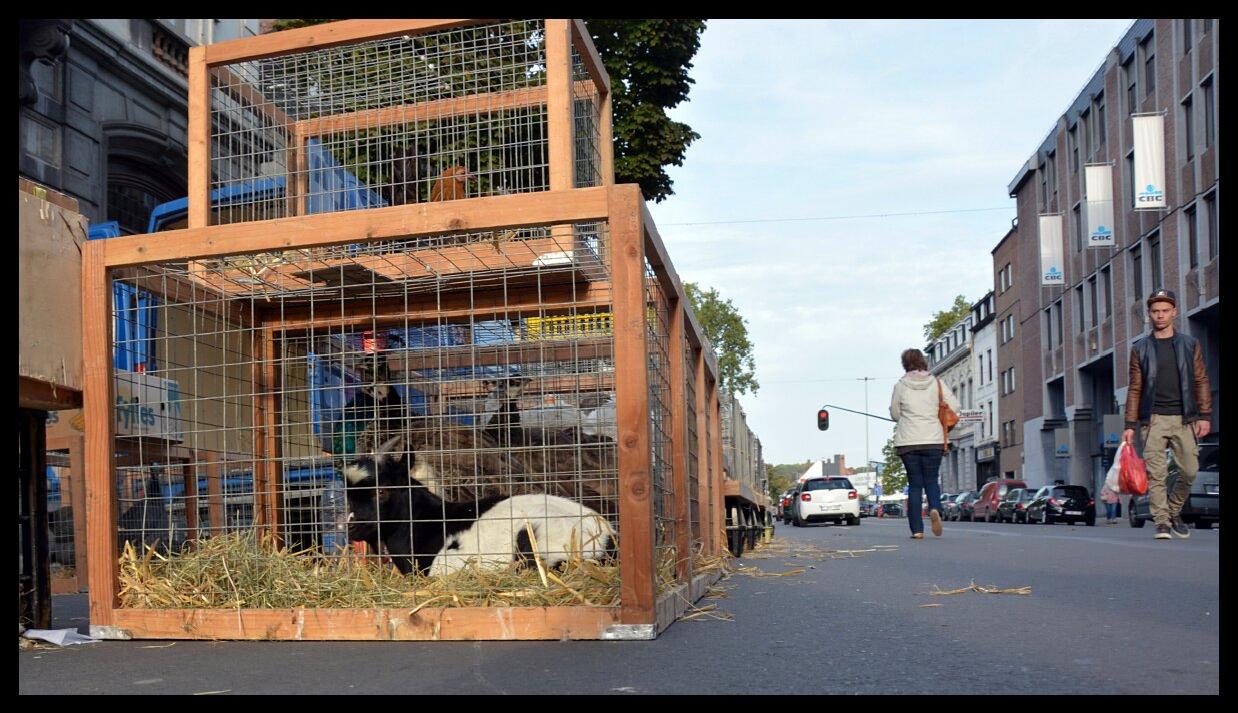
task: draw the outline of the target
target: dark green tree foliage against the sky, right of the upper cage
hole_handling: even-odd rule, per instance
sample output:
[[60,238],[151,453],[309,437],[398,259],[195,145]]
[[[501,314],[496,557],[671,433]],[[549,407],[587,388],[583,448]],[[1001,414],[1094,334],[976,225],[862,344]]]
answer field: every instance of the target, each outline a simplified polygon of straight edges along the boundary
[[639,183],[645,198],[672,196],[665,166],[683,165],[701,137],[666,110],[688,97],[692,57],[704,20],[586,20],[610,76],[617,183]]

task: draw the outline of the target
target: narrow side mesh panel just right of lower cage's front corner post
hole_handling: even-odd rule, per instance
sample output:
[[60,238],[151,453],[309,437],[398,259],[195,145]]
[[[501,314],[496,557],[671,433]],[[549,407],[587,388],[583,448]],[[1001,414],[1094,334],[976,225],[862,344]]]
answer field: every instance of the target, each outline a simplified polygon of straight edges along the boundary
[[654,562],[659,590],[675,582],[676,508],[671,467],[670,311],[666,295],[645,261],[645,326],[649,345],[649,444],[654,483]]

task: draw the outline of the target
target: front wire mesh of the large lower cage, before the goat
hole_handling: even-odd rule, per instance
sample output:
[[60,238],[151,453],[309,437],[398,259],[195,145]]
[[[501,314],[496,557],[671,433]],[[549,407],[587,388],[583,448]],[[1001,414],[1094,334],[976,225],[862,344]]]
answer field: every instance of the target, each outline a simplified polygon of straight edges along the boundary
[[118,553],[183,572],[208,540],[277,534],[307,561],[468,574],[453,592],[488,603],[511,589],[494,572],[567,562],[615,604],[607,243],[566,224],[114,274],[155,309],[114,309],[144,358],[115,370]]

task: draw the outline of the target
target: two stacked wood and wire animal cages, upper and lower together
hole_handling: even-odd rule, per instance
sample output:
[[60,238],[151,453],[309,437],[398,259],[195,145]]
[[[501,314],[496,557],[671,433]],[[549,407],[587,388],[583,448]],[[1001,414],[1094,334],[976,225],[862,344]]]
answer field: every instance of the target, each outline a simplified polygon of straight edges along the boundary
[[[613,184],[609,79],[579,21],[519,25],[527,32],[520,43],[531,52],[529,67],[537,67],[535,73],[543,68],[543,79],[513,82],[527,79],[531,71],[494,69],[475,54],[467,62],[442,59],[457,57],[452,42],[475,47],[513,33],[508,25],[493,27],[480,20],[343,21],[191,51],[188,225],[90,241],[83,254],[85,498],[95,635],[651,639],[718,577],[693,569],[695,556],[716,556],[723,548],[717,363],[639,187]],[[418,45],[417,38],[430,35],[432,41]],[[394,102],[392,93],[360,106],[324,104],[335,113],[323,105],[306,111],[298,104],[306,94],[321,97],[318,89],[264,95],[288,87],[279,89],[274,69],[262,62],[338,72],[360,57],[373,73],[375,67],[390,69],[396,50],[373,50],[386,47],[381,41],[390,38],[401,42],[399,52],[412,52],[412,58],[401,54],[401,67],[412,68],[406,74],[422,83],[417,87],[425,84],[426,67],[467,66],[457,72],[465,79],[453,74],[452,82],[436,84],[437,94],[413,93],[420,102],[411,104]],[[421,50],[404,50],[431,46],[437,59],[428,64],[428,54],[416,54]],[[338,52],[322,56],[326,59],[305,59],[306,53],[332,48]],[[496,88],[477,78],[483,74],[503,79]],[[251,77],[258,79],[246,80]],[[219,106],[249,116],[255,131],[279,140],[261,151],[256,144],[228,144],[229,131],[213,120]],[[504,124],[506,114],[493,114],[529,106],[540,109],[532,121],[539,126],[527,131]],[[483,123],[503,126],[495,130],[499,139],[490,146],[498,149],[488,158],[473,139],[443,149],[438,139],[417,137],[426,126],[442,126],[435,124],[442,118],[479,113],[491,113]],[[435,119],[427,123],[427,116]],[[323,153],[329,141],[314,144],[327,135],[355,136],[383,126],[402,126],[379,132],[390,141],[387,149],[437,152],[430,168],[418,157],[399,171],[366,170],[343,149]],[[542,149],[513,152],[500,146],[508,140],[520,151],[543,147],[545,166],[539,163]],[[420,166],[415,176],[406,171],[413,163]],[[470,177],[489,178],[469,178],[475,182],[461,183],[453,193],[443,183],[452,178],[453,163]],[[314,173],[324,165],[332,171],[343,166],[353,178],[369,171],[374,183],[366,186],[381,184],[383,191],[374,191],[381,201],[358,198],[366,186],[340,188],[338,171],[324,181]],[[321,201],[332,184],[337,193],[353,193],[333,203]],[[264,193],[270,187],[276,189]],[[387,199],[396,193],[400,199]],[[116,285],[142,291],[151,296],[149,303],[158,305],[157,319],[149,322],[158,326],[151,337],[151,363],[157,366],[142,374],[118,371],[109,359],[123,348],[115,326],[131,312],[129,305],[116,303]],[[494,324],[501,334],[485,335]],[[399,334],[404,343],[375,345],[381,334]],[[413,408],[416,399],[418,418],[438,425],[437,441],[420,441],[417,449],[418,457],[438,463],[441,491],[495,486],[510,495],[537,483],[550,488],[565,473],[574,478],[558,483],[565,493],[574,488],[581,496],[588,486],[591,503],[617,532],[617,602],[373,609],[121,605],[116,483],[126,468],[149,469],[172,453],[182,456],[177,468],[183,493],[176,500],[191,546],[197,537],[236,527],[217,506],[227,495],[227,464],[246,469],[251,479],[251,520],[241,527],[277,541],[301,536],[297,529],[307,521],[295,521],[288,512],[290,495],[303,494],[293,493],[293,470],[313,472],[318,465],[306,463],[324,453],[338,460],[339,453],[363,451],[361,441],[338,446],[339,433],[327,433],[324,410],[314,401],[313,364],[324,345],[335,345],[342,363],[373,364],[392,389],[401,386],[396,394],[407,401],[401,408]],[[588,413],[595,415],[604,411],[597,405],[612,399],[613,433],[591,436],[595,457],[589,467],[581,465],[587,448],[576,432],[579,441],[562,449],[572,453],[566,472],[548,464],[551,447],[541,443],[540,470],[505,473],[505,479],[488,484],[449,482],[444,464],[506,457],[504,446],[496,446],[501,441],[477,436],[483,423],[495,422],[482,417],[478,404],[485,394],[482,375],[498,381],[506,378],[499,374],[514,371],[543,404],[574,402],[572,413],[586,413],[587,399],[593,408]],[[126,382],[144,389],[157,384],[165,391],[175,385],[175,422],[168,410],[152,417],[146,431],[118,432],[114,404]],[[163,399],[160,408],[172,405],[166,394],[155,399]],[[520,406],[516,412],[527,418],[535,411]],[[459,438],[472,441],[444,437],[448,426],[442,423],[451,423],[452,438],[463,433]],[[517,449],[514,442],[506,447]],[[118,463],[118,453],[135,453],[136,462]],[[477,468],[480,473],[483,467]],[[199,515],[201,508],[208,517]]]

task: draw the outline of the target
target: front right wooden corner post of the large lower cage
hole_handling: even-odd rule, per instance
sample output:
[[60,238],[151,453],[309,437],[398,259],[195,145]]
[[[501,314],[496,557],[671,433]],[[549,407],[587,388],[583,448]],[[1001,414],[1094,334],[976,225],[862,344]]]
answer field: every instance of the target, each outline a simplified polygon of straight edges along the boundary
[[656,610],[640,188],[615,186],[608,191],[608,198],[619,470],[619,599],[624,624],[649,624],[655,621]]

